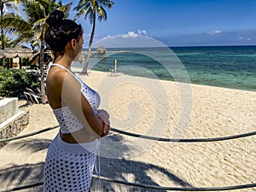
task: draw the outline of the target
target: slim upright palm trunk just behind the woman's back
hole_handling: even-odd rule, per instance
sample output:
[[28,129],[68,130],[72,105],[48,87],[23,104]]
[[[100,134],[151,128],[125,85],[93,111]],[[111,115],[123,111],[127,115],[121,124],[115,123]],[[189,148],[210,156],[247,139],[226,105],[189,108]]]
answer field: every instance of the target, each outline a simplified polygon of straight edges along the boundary
[[40,79],[41,79],[41,100],[45,104],[45,86],[44,86],[44,39],[41,38],[40,55],[39,55],[39,68],[40,68]]

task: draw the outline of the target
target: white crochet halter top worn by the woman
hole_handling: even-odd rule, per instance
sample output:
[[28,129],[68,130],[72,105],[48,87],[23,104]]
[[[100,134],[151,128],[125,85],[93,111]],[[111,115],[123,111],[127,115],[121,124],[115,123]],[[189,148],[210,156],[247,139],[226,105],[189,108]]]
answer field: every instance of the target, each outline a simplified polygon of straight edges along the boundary
[[[75,76],[73,73],[67,70],[67,68],[59,64],[49,63],[49,68],[52,66],[61,67],[79,81],[79,83],[81,84],[81,93],[90,103],[90,107],[93,109],[94,113],[97,114],[97,108],[99,108],[101,103],[101,98],[99,94],[95,90],[92,90],[87,84],[84,84],[84,82],[79,79],[79,77]],[[53,112],[55,113],[55,117],[61,126],[61,133],[71,133],[74,131],[79,131],[84,127],[84,125],[80,123],[79,119],[73,114],[68,106],[53,109]]]

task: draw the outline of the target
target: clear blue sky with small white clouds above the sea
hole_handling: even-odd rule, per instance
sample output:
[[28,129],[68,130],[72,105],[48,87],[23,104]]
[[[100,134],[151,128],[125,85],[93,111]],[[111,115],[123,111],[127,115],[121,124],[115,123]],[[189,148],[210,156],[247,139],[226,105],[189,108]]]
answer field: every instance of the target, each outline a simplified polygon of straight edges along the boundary
[[[65,2],[69,2],[65,0]],[[74,1],[76,4],[78,1]],[[148,36],[168,46],[256,44],[256,0],[114,0],[95,40]],[[85,44],[91,26],[84,18]]]

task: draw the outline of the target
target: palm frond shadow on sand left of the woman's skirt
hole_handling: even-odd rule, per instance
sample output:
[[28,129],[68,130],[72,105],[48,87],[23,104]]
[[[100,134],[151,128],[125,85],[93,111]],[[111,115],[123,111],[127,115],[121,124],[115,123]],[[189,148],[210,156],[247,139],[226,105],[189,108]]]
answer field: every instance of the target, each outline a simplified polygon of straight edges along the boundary
[[[49,148],[49,139],[21,139],[8,143],[8,147],[16,151],[25,151],[27,155],[41,152]],[[1,153],[1,150],[0,150]],[[13,154],[15,156],[15,154]],[[6,160],[8,163],[8,160]],[[40,183],[43,181],[44,159],[38,164],[8,165],[0,169],[1,189],[14,189],[16,187]],[[43,191],[43,186],[31,189],[22,189],[21,192]]]

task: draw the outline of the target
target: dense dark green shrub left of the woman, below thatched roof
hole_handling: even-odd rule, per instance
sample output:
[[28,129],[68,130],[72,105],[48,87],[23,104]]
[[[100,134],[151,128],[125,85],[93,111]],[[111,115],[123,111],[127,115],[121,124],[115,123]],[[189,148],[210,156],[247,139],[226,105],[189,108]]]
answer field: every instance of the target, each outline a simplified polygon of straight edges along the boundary
[[39,88],[38,77],[32,73],[26,73],[24,69],[2,69],[0,71],[0,96],[22,98],[26,87]]

